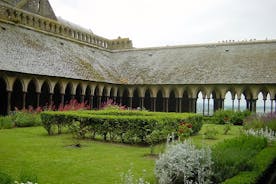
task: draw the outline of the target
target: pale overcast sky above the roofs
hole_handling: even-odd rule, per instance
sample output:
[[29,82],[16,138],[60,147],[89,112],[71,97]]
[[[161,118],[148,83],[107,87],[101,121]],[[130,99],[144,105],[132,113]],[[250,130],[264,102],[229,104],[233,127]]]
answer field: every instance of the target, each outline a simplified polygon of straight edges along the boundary
[[57,16],[134,47],[276,39],[276,0],[50,0]]

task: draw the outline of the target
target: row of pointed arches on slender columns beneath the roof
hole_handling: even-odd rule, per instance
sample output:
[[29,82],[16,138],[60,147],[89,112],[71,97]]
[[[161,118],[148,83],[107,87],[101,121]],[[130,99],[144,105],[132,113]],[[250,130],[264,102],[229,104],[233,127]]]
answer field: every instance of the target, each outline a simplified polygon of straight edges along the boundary
[[[72,99],[84,102],[91,109],[98,109],[102,103],[112,99],[133,109],[143,107],[150,111],[197,112],[199,93],[205,115],[224,109],[227,93],[231,94],[232,110],[241,110],[240,101],[244,96],[246,109],[256,112],[260,93],[263,95],[264,112],[273,112],[276,107],[275,91],[270,85],[118,85],[1,72],[0,90],[1,115],[15,108],[58,108]],[[266,109],[266,102],[269,109]]]

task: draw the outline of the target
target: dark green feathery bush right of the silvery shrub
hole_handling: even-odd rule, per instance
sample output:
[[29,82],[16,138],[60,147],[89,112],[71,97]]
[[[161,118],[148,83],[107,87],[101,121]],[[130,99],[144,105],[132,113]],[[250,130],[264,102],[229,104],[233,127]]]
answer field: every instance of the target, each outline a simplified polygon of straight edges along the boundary
[[218,143],[212,149],[213,182],[220,183],[241,171],[251,170],[250,160],[266,145],[266,139],[253,136],[240,136]]

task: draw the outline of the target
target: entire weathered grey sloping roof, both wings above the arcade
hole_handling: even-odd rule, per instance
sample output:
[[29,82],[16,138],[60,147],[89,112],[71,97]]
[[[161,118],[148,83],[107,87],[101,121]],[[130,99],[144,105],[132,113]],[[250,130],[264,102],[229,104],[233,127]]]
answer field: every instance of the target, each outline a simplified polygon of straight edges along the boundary
[[276,83],[276,41],[108,52],[0,26],[0,70],[128,84]]

